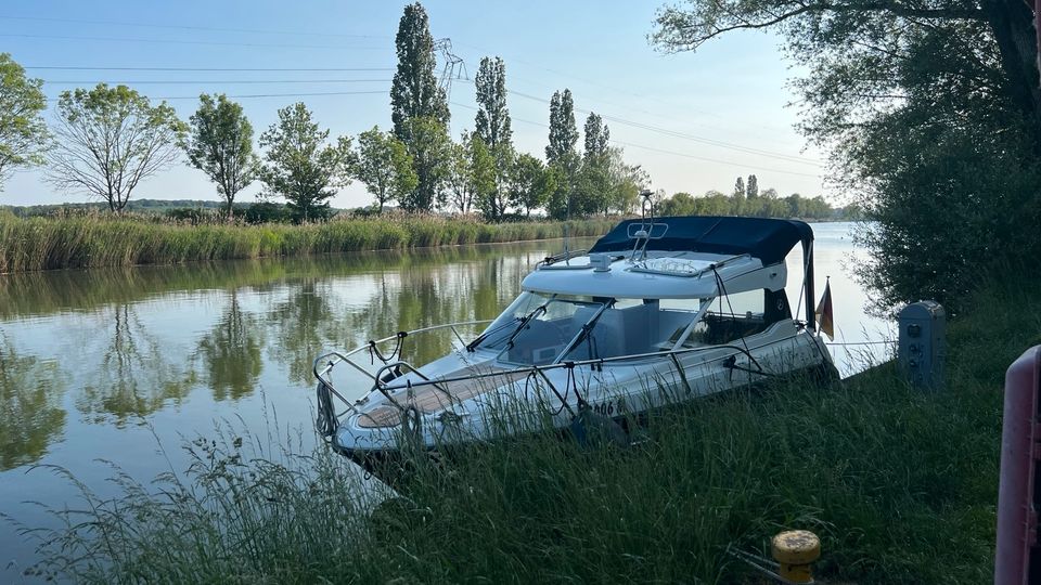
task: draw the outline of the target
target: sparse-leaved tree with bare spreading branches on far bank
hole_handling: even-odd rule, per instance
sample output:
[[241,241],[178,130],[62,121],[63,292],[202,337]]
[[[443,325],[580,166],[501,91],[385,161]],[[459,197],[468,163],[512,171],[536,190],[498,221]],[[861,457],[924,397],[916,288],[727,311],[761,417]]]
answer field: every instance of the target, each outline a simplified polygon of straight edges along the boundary
[[64,91],[55,117],[48,180],[100,197],[114,212],[123,211],[141,181],[178,159],[188,132],[166,102],[153,106],[126,86]]

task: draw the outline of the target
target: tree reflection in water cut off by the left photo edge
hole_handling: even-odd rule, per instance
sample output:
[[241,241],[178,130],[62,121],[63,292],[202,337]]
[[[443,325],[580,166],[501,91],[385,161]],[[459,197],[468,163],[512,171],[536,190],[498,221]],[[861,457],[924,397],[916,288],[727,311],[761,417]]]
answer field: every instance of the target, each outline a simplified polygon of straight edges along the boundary
[[0,471],[38,460],[65,429],[64,386],[55,362],[20,356],[0,336]]

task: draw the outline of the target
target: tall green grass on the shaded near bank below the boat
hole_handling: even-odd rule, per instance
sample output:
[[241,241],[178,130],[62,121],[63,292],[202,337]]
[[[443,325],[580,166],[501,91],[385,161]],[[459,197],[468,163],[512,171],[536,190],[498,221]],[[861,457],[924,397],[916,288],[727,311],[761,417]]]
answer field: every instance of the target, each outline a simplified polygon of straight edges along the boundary
[[[818,576],[982,583],[993,570],[1005,367],[1041,342],[1041,299],[993,287],[949,334],[948,387],[891,365],[832,388],[785,384],[652,418],[629,448],[553,437],[421,466],[370,514],[371,483],[325,448],[190,445],[185,478],[83,511],[44,538],[44,572],[94,583],[760,583],[728,548],[821,535]],[[994,313],[997,311],[997,314]]]

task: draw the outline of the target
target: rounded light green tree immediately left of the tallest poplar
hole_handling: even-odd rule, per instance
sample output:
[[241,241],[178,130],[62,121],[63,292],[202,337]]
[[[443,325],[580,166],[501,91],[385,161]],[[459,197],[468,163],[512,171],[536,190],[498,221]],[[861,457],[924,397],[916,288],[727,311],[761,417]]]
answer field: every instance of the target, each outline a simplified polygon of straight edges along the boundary
[[380,213],[384,205],[406,197],[420,181],[404,144],[378,126],[358,134],[356,160],[351,174],[376,197]]

